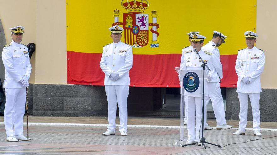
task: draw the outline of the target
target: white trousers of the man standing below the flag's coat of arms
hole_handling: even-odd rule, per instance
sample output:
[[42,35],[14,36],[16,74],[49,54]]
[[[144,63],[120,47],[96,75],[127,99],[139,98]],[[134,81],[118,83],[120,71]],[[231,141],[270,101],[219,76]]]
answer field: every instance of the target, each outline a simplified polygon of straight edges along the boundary
[[119,108],[119,131],[127,132],[127,98],[129,85],[105,85],[108,100],[108,129],[115,132],[116,128],[116,105]]

